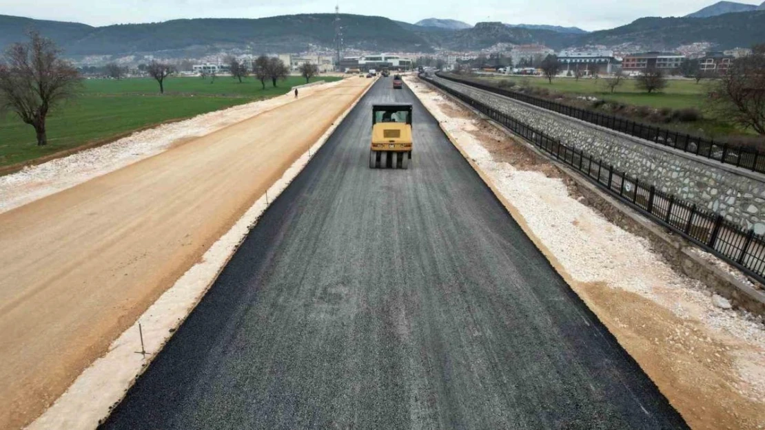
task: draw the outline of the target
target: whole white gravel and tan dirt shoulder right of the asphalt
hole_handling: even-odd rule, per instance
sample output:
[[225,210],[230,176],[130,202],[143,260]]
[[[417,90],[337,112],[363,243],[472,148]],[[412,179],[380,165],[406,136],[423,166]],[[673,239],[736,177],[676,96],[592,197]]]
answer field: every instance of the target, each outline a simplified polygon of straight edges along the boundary
[[762,318],[724,310],[562,173],[418,79],[410,86],[588,307],[692,428],[765,427]]

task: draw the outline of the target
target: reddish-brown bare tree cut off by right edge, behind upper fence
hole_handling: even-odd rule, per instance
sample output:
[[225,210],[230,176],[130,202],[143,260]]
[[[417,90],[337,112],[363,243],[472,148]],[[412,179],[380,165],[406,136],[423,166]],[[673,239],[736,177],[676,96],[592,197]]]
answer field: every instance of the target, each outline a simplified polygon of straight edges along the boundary
[[728,67],[712,92],[712,108],[721,118],[765,134],[765,51]]

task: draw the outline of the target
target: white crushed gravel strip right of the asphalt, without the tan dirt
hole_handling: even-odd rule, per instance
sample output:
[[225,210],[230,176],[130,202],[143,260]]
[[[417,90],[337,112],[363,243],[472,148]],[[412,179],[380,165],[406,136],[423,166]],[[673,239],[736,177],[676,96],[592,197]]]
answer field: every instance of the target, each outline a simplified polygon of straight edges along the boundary
[[[708,328],[711,333],[741,346],[731,351],[737,357],[741,393],[765,403],[765,326],[763,318],[741,310],[723,309],[712,300],[705,285],[681,276],[652,251],[649,241],[607,221],[589,206],[568,194],[562,179],[538,171],[517,170],[509,163],[493,160],[489,150],[470,134],[478,128],[470,118],[451,118],[441,109],[449,105],[437,92],[427,92],[422,83],[409,81],[425,107],[435,115],[448,134],[493,181],[503,197],[526,221],[533,234],[575,280],[606,283],[653,300],[675,315]],[[423,91],[425,90],[425,91]],[[715,259],[713,256],[708,257]],[[716,259],[715,259],[716,260]],[[727,265],[725,265],[727,266]],[[721,298],[720,298],[721,299]],[[734,383],[734,385],[738,385]]]

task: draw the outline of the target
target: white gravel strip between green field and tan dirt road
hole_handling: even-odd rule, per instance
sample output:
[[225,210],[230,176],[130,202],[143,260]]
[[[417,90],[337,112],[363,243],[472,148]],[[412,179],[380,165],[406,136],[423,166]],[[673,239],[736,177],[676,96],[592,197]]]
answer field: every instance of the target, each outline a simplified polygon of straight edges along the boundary
[[[301,91],[301,96],[321,91],[339,82],[304,89]],[[285,94],[272,99],[208,112],[184,121],[138,131],[100,147],[82,150],[68,157],[57,158],[37,166],[25,167],[17,173],[0,176],[0,213],[160,154],[178,141],[210,134],[294,100],[294,96]]]

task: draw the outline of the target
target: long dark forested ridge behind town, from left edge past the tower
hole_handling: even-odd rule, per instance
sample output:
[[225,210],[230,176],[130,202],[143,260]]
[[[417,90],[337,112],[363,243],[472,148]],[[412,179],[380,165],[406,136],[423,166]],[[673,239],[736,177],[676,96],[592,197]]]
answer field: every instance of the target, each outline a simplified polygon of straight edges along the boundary
[[[37,29],[68,57],[151,54],[198,57],[221,50],[249,53],[301,52],[334,46],[334,14],[283,15],[258,19],[179,19],[152,24],[90,27],[0,15],[0,49]],[[431,52],[431,44],[388,18],[340,15],[345,46],[372,51]]]

